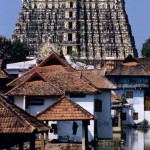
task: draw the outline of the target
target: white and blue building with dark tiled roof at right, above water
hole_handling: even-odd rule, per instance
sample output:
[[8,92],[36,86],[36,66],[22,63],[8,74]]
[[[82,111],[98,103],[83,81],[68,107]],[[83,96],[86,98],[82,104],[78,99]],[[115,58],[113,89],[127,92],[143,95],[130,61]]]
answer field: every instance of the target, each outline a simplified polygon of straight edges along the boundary
[[149,63],[129,55],[125,60],[108,73],[108,78],[116,84],[114,90],[118,99],[125,100],[130,107],[122,108],[122,125],[138,124],[145,119],[150,121],[150,73]]

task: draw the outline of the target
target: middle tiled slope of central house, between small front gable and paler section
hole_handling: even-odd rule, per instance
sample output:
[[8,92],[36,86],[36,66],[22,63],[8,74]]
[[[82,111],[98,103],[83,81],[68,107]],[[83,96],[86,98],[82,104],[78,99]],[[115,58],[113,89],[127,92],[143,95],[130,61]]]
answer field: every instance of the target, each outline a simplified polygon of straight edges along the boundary
[[64,92],[95,93],[97,89],[81,78],[79,72],[55,72],[45,78]]

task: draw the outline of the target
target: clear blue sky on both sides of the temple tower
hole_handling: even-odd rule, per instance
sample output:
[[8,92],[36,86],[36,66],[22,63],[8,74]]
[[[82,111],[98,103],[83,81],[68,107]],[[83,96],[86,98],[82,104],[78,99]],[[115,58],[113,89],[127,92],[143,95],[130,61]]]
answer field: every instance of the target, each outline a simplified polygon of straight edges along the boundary
[[[125,0],[126,11],[140,52],[143,42],[150,37],[150,0]],[[0,35],[11,38],[21,10],[22,0],[0,1]]]

